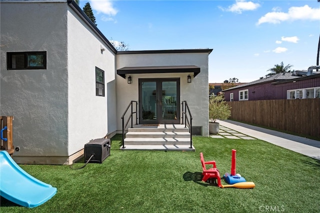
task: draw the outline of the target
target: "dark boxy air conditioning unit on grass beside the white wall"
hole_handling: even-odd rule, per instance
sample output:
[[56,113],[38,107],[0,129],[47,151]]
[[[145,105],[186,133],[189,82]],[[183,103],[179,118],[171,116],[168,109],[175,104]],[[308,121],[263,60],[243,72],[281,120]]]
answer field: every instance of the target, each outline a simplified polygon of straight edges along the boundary
[[84,144],[84,162],[102,163],[110,155],[110,139],[98,138]]

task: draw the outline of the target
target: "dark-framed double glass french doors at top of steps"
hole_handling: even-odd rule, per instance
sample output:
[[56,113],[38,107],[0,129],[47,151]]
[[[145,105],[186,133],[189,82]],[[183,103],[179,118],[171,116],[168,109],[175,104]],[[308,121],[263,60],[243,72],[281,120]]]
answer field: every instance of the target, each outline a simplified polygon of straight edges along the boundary
[[180,79],[139,79],[139,123],[180,122]]

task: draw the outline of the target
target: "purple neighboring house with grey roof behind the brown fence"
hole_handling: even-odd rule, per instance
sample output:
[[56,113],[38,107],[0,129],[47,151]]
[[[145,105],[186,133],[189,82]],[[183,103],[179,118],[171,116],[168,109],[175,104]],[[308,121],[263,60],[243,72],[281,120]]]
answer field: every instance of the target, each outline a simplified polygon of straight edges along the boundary
[[278,73],[223,90],[226,101],[318,98],[320,73]]

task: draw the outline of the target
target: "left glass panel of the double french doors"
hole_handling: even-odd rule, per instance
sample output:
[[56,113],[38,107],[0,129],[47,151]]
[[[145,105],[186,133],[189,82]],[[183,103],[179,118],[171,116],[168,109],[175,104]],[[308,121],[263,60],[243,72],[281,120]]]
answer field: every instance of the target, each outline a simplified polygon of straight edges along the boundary
[[156,82],[141,82],[142,120],[157,119]]

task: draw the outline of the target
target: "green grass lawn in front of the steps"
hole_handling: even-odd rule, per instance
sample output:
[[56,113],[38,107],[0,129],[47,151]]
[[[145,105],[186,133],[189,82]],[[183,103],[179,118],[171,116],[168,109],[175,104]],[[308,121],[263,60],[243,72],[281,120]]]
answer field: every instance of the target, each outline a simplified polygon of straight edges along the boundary
[[[1,197],[0,212],[319,212],[320,161],[262,140],[193,137],[195,152],[122,151],[112,138],[102,164],[82,169],[67,165],[20,165],[57,188],[35,208]],[[215,160],[222,176],[236,171],[253,189],[219,188],[201,182],[204,160]],[[73,167],[83,165],[83,160]],[[226,184],[221,180],[222,184]]]

